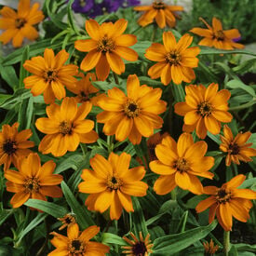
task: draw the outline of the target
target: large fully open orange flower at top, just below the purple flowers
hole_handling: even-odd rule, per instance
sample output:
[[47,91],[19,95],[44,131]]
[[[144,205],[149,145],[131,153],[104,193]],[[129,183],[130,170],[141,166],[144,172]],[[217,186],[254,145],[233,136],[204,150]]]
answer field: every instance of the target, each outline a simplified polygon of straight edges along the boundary
[[89,71],[96,67],[97,77],[104,81],[110,69],[116,74],[125,72],[122,58],[137,61],[137,52],[129,48],[137,43],[137,38],[133,34],[123,34],[127,26],[128,21],[124,19],[115,21],[115,24],[104,22],[101,25],[96,20],[87,20],[86,30],[91,39],[74,42],[76,49],[88,52],[81,62],[81,69]]

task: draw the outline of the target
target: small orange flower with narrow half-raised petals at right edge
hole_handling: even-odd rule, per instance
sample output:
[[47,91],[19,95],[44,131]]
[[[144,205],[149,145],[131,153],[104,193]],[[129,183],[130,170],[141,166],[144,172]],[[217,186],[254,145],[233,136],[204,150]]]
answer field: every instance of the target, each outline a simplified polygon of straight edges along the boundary
[[224,126],[223,128],[224,136],[221,136],[222,144],[220,149],[223,152],[227,152],[226,156],[226,166],[230,166],[231,161],[236,165],[239,165],[241,161],[251,162],[252,159],[249,156],[256,156],[256,150],[249,148],[252,143],[246,142],[249,140],[251,133],[249,131],[245,133],[238,133],[234,139],[231,128]]

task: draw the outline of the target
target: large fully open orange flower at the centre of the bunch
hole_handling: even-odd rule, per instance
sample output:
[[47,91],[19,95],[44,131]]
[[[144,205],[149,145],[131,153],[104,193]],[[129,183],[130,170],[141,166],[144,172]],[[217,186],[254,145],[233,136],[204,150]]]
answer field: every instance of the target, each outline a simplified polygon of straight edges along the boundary
[[128,96],[119,88],[108,90],[108,97],[102,95],[98,105],[104,111],[97,115],[97,121],[104,123],[103,132],[114,135],[117,141],[127,138],[133,144],[141,142],[141,136],[153,135],[155,128],[161,128],[163,119],[158,116],[166,111],[166,102],[160,101],[162,90],[140,87],[136,74],[128,76]]

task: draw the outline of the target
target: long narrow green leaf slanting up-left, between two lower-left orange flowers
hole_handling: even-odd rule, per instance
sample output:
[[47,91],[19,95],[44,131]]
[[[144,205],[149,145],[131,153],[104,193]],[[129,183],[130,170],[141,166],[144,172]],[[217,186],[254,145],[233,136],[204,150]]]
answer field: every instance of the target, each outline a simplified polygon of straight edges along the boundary
[[65,182],[61,182],[61,189],[67,200],[67,203],[69,204],[70,208],[74,211],[74,214],[77,217],[76,220],[81,226],[81,228],[84,230],[88,228],[88,226],[95,225],[95,223],[89,215],[88,209],[86,209],[84,206],[81,206],[80,203],[78,203],[78,201],[76,200],[76,198],[74,197],[74,195],[72,194],[71,190]]

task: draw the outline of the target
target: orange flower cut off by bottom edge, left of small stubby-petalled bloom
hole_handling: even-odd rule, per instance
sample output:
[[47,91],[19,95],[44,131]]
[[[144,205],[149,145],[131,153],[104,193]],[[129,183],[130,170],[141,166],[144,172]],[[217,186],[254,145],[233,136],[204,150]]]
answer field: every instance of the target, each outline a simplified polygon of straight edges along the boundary
[[50,233],[53,239],[50,242],[56,247],[47,256],[104,256],[109,247],[98,242],[89,241],[100,232],[100,227],[89,226],[82,233],[78,224],[68,226],[67,235],[62,236],[56,232]]

